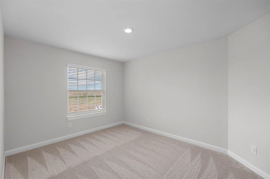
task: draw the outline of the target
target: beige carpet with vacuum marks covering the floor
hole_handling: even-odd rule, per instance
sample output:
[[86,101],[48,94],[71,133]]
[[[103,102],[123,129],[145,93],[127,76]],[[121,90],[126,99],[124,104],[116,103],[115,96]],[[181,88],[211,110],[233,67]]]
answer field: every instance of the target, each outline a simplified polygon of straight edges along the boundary
[[228,155],[119,125],[6,157],[5,179],[261,178]]

